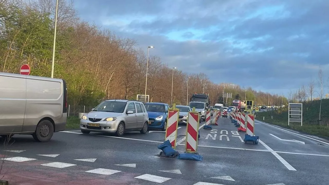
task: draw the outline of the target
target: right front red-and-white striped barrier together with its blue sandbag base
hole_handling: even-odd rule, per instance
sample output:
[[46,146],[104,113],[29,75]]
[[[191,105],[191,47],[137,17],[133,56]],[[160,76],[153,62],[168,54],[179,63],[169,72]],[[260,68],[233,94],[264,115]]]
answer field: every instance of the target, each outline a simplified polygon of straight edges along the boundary
[[179,154],[177,159],[189,159],[202,161],[203,157],[197,153],[198,149],[198,132],[199,132],[199,113],[193,107],[188,113],[188,123],[186,126],[186,145],[185,152]]

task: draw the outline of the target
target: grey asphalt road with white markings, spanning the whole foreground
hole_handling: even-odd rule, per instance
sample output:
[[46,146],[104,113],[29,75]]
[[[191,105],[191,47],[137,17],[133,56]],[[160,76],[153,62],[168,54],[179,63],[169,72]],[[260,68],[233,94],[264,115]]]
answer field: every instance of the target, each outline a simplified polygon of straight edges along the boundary
[[[164,142],[161,131],[145,135],[128,132],[122,138],[64,131],[55,133],[48,143],[35,142],[31,136],[15,135],[9,146],[0,148],[2,157],[7,158],[1,174],[12,184],[21,185],[328,184],[328,141],[256,121],[255,134],[260,142],[248,145],[241,142],[244,133],[237,132],[230,119],[220,118],[213,130],[202,129],[202,124],[198,152],[203,161],[158,157],[157,145]],[[176,150],[182,153],[186,125],[179,127]],[[40,156],[44,154],[59,155]],[[30,161],[24,161],[26,158]],[[64,168],[58,168],[59,165]],[[163,172],[168,170],[171,171]]]

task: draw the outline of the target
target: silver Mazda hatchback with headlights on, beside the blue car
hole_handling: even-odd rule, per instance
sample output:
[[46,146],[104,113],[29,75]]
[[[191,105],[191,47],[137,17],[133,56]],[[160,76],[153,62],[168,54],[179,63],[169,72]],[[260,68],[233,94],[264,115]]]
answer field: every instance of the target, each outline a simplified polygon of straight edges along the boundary
[[142,102],[135,100],[106,100],[97,105],[80,120],[84,134],[90,132],[115,133],[122,136],[125,131],[148,131],[148,114]]

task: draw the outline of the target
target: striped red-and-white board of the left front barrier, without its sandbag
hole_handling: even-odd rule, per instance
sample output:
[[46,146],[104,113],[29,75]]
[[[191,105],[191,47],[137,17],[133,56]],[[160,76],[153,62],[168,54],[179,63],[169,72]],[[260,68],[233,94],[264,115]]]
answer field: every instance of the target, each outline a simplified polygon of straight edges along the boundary
[[179,109],[176,109],[176,104],[168,110],[167,126],[165,130],[164,141],[169,140],[171,147],[176,148],[177,127],[178,127]]

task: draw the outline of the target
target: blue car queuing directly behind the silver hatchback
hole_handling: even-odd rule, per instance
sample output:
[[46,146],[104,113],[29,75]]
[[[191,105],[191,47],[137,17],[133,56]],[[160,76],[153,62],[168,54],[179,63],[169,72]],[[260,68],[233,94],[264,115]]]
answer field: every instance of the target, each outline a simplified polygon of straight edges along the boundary
[[148,128],[165,131],[169,105],[166,103],[145,103],[148,114]]

